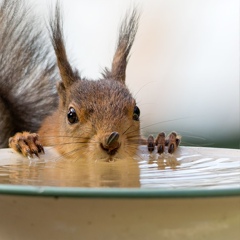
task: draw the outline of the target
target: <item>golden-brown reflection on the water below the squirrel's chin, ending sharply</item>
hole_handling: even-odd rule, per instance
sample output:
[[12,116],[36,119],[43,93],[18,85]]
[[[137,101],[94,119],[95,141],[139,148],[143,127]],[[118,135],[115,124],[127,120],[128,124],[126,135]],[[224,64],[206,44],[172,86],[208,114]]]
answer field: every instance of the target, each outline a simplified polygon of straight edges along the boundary
[[[48,159],[48,160],[46,160]],[[72,186],[72,187],[139,187],[139,167],[135,159],[116,162],[69,160],[58,156],[44,159],[19,159],[0,166],[0,183]]]

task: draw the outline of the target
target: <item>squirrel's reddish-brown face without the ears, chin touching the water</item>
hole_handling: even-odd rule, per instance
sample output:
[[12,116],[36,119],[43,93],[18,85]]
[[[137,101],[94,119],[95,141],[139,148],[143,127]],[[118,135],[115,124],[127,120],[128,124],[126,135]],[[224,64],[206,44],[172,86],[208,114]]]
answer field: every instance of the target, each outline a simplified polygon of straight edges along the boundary
[[[139,116],[136,102],[124,84],[113,79],[78,80],[59,105],[62,124],[57,149],[63,155],[81,152],[106,161],[132,156],[140,138]],[[64,142],[68,144],[64,146]]]

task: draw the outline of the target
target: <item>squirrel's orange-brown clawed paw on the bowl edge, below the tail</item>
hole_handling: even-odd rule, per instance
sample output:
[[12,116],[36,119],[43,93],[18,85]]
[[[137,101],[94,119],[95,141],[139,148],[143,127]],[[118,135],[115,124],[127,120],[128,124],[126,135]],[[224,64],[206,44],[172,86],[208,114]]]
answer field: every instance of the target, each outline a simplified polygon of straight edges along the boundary
[[33,155],[39,157],[39,153],[44,153],[44,149],[36,133],[16,133],[13,137],[9,138],[9,147],[28,158],[32,158]]

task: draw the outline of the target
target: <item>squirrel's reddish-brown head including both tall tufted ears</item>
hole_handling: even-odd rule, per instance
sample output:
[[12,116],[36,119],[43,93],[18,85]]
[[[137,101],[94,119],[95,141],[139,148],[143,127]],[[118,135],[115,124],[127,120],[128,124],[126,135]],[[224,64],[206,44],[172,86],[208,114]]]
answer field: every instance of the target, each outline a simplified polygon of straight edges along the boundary
[[56,147],[60,153],[77,156],[82,152],[107,161],[136,153],[140,110],[125,85],[125,75],[137,27],[138,16],[132,11],[121,24],[111,70],[105,69],[103,78],[97,81],[83,79],[67,59],[57,6],[51,31],[61,76]]

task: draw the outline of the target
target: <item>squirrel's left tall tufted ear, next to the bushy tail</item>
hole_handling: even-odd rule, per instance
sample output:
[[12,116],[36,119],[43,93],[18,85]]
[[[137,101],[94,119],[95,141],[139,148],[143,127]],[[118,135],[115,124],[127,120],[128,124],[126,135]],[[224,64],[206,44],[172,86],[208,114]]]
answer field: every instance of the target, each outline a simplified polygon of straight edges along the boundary
[[55,50],[57,57],[57,64],[60,71],[60,75],[64,86],[67,88],[72,85],[73,82],[79,80],[79,75],[77,71],[73,71],[66,54],[64,37],[63,37],[63,27],[62,18],[59,2],[56,4],[55,17],[50,19],[50,35],[52,40],[52,45]]

